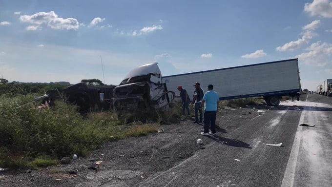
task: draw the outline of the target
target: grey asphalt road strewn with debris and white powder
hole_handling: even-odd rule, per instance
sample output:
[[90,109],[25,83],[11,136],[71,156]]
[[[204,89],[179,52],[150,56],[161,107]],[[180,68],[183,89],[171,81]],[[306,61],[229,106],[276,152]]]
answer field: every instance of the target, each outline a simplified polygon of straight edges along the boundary
[[332,98],[307,96],[234,124],[226,136],[201,137],[214,141],[139,186],[331,187]]

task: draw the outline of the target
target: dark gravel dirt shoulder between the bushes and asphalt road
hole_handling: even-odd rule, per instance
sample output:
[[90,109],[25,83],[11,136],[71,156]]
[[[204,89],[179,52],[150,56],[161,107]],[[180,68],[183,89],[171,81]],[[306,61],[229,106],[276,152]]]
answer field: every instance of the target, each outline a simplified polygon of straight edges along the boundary
[[[216,120],[218,136],[226,137],[238,128],[234,124],[246,123],[263,115],[252,108],[219,110]],[[263,105],[260,108],[267,109]],[[68,165],[32,170],[31,173],[9,171],[0,175],[0,187],[139,186],[141,182],[178,165],[214,141],[213,138],[205,138],[203,145],[197,144],[197,139],[202,138],[199,133],[203,125],[192,122],[193,118],[178,124],[162,125],[164,133],[107,142],[92,151],[89,157],[78,158]],[[96,161],[103,161],[98,172],[95,170]]]

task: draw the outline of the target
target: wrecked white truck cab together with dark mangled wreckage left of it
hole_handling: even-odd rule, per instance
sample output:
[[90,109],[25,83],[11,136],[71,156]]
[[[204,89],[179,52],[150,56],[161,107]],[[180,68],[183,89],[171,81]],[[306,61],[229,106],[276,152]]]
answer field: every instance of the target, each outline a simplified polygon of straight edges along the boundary
[[81,114],[109,109],[121,114],[146,108],[169,110],[174,96],[173,91],[167,91],[166,83],[162,83],[158,63],[149,63],[131,70],[118,86],[77,83],[65,89],[48,90],[35,100],[50,106],[56,100],[63,100],[76,104]]

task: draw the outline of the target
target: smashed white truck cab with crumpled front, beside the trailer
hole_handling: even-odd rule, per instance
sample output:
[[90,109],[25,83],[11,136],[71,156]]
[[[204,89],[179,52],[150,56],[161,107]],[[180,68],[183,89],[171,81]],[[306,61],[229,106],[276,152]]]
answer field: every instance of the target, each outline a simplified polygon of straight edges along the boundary
[[149,63],[131,70],[113,91],[113,104],[118,112],[153,107],[168,110],[174,92],[162,83],[158,63]]

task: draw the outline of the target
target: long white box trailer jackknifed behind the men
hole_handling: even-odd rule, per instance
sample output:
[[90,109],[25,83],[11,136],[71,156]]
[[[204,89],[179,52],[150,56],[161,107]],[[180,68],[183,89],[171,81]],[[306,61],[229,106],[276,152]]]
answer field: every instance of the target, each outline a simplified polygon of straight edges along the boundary
[[213,84],[220,100],[263,97],[268,105],[274,106],[280,103],[281,96],[298,98],[301,92],[297,59],[170,75],[162,81],[167,90],[175,93],[179,93],[179,85],[183,86],[190,99],[193,84],[198,82],[205,91],[208,84]]

